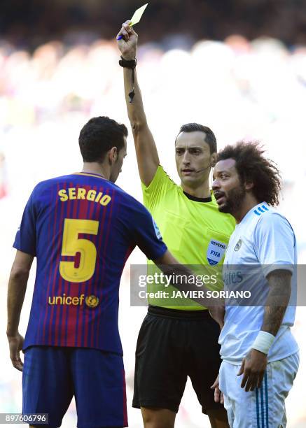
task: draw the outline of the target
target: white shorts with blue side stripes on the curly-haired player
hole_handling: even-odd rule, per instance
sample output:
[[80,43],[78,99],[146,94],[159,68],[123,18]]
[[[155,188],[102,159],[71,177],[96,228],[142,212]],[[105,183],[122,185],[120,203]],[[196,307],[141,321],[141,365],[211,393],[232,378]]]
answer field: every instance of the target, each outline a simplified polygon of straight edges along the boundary
[[299,354],[267,364],[260,388],[245,392],[240,386],[240,366],[223,361],[219,372],[220,390],[228,412],[230,428],[286,427],[285,399],[298,371]]

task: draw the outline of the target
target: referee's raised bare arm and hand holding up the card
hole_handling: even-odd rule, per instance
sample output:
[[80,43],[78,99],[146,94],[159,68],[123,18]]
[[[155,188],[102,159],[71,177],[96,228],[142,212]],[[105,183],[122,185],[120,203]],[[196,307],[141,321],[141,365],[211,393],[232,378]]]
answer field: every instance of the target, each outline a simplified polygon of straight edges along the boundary
[[[126,21],[120,29],[118,36],[123,36],[123,38],[117,40],[117,43],[121,56],[124,59],[131,60],[136,58],[138,36],[134,29],[130,27],[128,22],[129,21]],[[146,114],[144,112],[144,104],[142,102],[136,69],[134,69],[134,98],[131,103],[129,93],[132,90],[132,70],[124,67],[123,76],[125,102],[133,132],[139,176],[141,182],[148,186],[153,180],[156,170],[158,169],[158,165],[160,164],[158,150],[146,121]]]

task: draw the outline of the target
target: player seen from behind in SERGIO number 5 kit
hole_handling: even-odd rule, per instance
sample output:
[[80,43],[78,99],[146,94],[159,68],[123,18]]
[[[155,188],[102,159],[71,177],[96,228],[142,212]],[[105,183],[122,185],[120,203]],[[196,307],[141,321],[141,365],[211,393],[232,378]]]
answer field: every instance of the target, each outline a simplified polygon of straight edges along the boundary
[[[109,117],[85,124],[79,137],[83,171],[36,185],[15,238],[8,285],[11,360],[23,369],[23,413],[48,413],[48,427],[60,427],[73,395],[79,428],[127,427],[120,277],[135,245],[149,259],[175,264],[151,214],[114,184],[126,136],[125,125]],[[18,324],[34,257],[24,341]]]

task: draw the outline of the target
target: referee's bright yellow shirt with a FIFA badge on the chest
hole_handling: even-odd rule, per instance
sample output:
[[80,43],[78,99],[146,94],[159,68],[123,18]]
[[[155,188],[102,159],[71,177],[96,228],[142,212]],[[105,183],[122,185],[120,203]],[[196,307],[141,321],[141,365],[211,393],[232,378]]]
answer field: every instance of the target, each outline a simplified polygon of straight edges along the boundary
[[[211,271],[218,271],[218,278],[220,278],[217,288],[223,287],[221,265],[230,235],[235,229],[234,217],[218,211],[218,204],[212,192],[211,200],[186,195],[181,186],[176,185],[169,178],[162,166],[158,166],[148,187],[142,183],[142,191],[144,205],[153,215],[162,239],[174,257],[181,264],[193,265],[194,267],[190,266],[193,271],[197,271],[200,265],[214,266]],[[148,261],[148,264],[153,262]],[[219,266],[220,269],[218,269]],[[153,266],[150,269],[151,273],[152,269],[154,269]],[[158,284],[148,285],[148,292],[158,290],[165,290],[165,287]],[[169,297],[172,296],[173,291],[175,291],[174,287],[167,287]],[[183,301],[167,299],[165,304],[162,299],[151,298],[148,299],[148,303],[185,311],[203,309],[203,306],[191,299],[183,299]]]

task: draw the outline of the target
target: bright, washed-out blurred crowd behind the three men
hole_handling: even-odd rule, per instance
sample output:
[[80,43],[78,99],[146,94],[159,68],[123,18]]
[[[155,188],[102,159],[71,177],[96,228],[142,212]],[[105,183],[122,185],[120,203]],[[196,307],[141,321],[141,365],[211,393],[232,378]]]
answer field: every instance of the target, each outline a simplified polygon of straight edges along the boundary
[[[194,13],[196,15],[196,10]],[[119,26],[115,34],[118,30]],[[141,43],[141,34],[139,39]],[[257,38],[250,42],[238,35],[228,36],[222,42],[197,41],[186,49],[190,38],[180,34],[173,36],[172,43],[175,48],[168,50],[163,44],[143,43],[137,65],[148,122],[165,169],[176,177],[174,138],[180,125],[186,122],[211,127],[219,147],[240,139],[262,141],[283,173],[281,211],[293,224],[298,236],[299,260],[305,264],[305,215],[301,206],[305,204],[302,194],[306,185],[306,47],[300,45],[288,50],[275,38]],[[4,39],[0,41],[1,326],[6,322],[6,280],[14,255],[10,248],[29,192],[39,180],[80,169],[78,132],[89,117],[109,115],[127,124],[118,57],[114,40],[69,47],[50,41],[32,53],[15,48]],[[131,136],[128,151],[118,185],[141,200]],[[130,262],[145,261],[135,253]],[[133,353],[144,308],[130,308],[128,285],[127,269],[121,287],[120,327],[129,387],[130,426],[136,428],[141,417],[130,408]],[[33,277],[22,314],[23,331],[32,287]],[[306,318],[302,309],[298,308],[294,332],[304,362],[288,399],[290,428],[306,424],[305,392],[304,396],[302,393],[306,370],[302,323],[305,326]],[[4,332],[5,327],[1,327],[2,344],[6,343]],[[0,363],[4,368],[0,379],[0,411],[18,412],[20,373],[11,366],[8,352],[1,352]],[[69,419],[71,414],[66,418],[67,425],[63,426],[69,427],[74,423]],[[203,425],[203,418],[195,395],[187,392],[177,427],[209,426]]]

